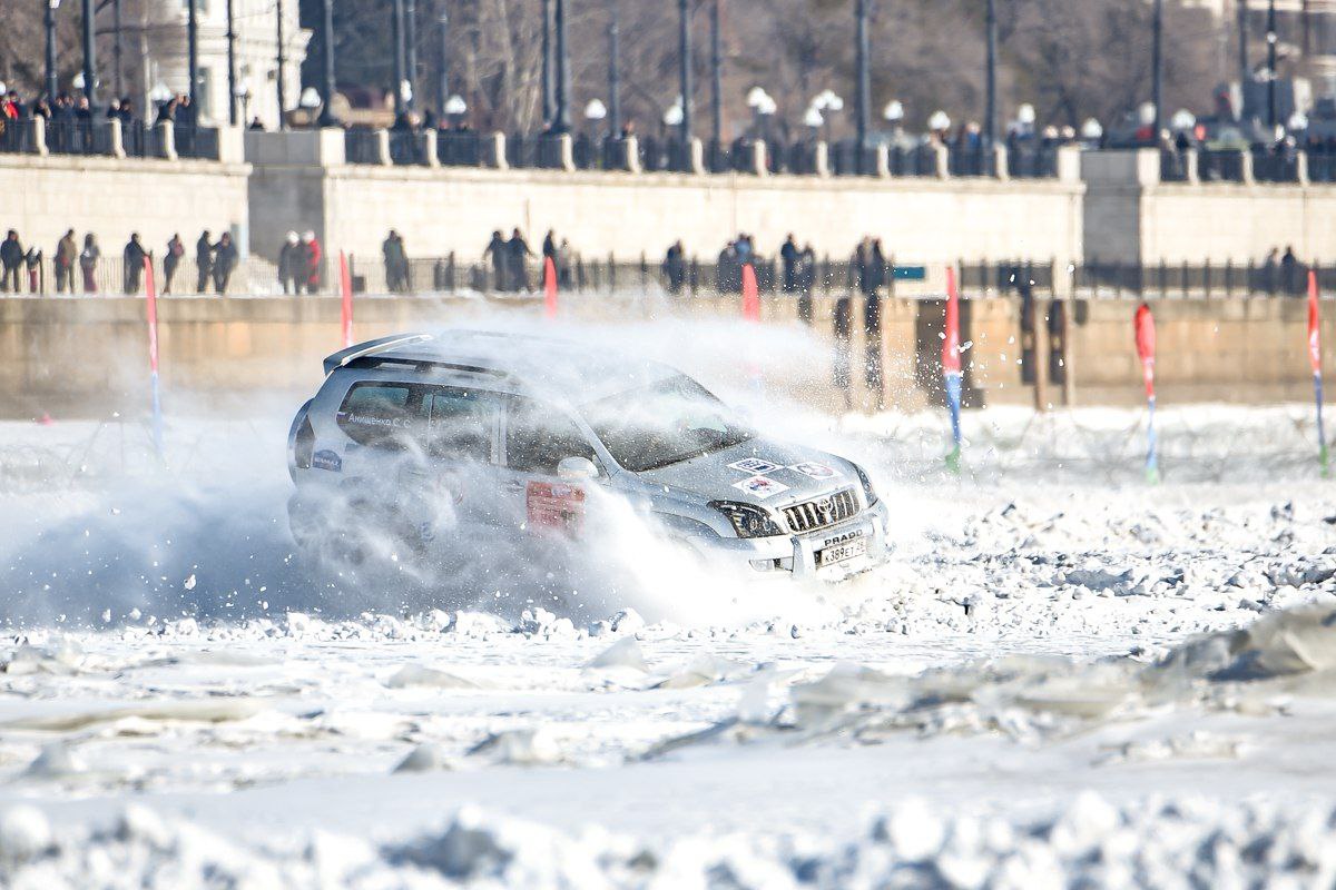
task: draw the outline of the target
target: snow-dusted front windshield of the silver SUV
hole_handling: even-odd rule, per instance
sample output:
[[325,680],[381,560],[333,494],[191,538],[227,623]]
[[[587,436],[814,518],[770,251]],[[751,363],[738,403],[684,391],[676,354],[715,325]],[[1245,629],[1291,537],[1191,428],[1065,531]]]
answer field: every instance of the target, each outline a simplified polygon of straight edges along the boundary
[[631,472],[731,448],[754,435],[684,375],[592,402],[584,415],[612,458]]

